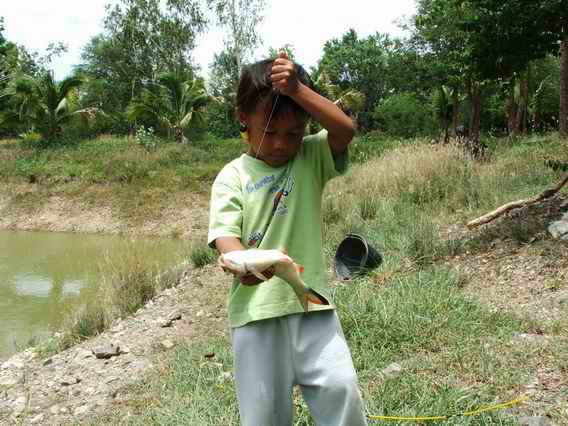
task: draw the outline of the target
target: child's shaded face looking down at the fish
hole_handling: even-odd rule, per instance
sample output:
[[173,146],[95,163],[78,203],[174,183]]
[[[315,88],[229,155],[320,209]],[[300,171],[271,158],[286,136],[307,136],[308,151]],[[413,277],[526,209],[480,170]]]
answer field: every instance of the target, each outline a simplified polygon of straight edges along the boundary
[[[241,120],[248,127],[248,153],[271,167],[280,167],[300,150],[308,119],[293,112],[284,112],[273,117],[266,128],[269,115],[270,110],[266,114],[265,103],[259,102],[254,113],[241,114]],[[264,129],[266,135],[263,140]]]

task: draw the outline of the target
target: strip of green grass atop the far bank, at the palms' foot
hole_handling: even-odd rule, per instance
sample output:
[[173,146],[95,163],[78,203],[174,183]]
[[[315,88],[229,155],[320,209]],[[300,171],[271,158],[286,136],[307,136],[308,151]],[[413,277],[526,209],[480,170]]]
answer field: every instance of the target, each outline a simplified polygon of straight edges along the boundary
[[133,185],[203,190],[220,168],[243,150],[239,140],[159,144],[147,152],[132,138],[101,137],[52,149],[0,142],[0,177],[43,185]]

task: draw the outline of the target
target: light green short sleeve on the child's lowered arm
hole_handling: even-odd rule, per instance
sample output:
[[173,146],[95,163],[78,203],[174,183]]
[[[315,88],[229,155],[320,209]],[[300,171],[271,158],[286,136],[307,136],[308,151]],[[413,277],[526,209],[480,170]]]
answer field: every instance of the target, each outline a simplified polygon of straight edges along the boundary
[[242,192],[238,176],[231,170],[222,170],[211,190],[209,233],[207,244],[215,248],[219,237],[241,238],[243,222]]

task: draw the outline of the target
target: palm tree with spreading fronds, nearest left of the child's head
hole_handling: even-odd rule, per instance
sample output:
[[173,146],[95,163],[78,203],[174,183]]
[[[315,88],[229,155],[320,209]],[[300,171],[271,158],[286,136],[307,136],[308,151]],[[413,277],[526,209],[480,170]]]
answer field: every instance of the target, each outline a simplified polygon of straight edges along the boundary
[[201,78],[179,73],[164,74],[154,85],[157,90],[145,88],[128,106],[130,121],[139,118],[153,120],[173,131],[178,143],[184,141],[184,130],[205,124],[204,107],[213,100],[205,90]]

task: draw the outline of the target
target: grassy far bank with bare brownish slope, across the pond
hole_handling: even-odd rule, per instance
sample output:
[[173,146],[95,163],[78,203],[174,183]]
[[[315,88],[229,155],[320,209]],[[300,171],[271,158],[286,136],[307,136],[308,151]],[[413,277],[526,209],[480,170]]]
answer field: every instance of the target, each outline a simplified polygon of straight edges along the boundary
[[[360,138],[354,158],[364,161],[377,154],[377,147],[400,143]],[[213,138],[190,144],[158,141],[152,151],[128,137],[86,139],[51,149],[2,140],[0,180],[5,187],[0,195],[9,196],[9,208],[19,216],[33,215],[57,196],[85,209],[109,207],[117,219],[137,226],[159,219],[164,206],[187,205],[188,194],[206,198],[221,167],[245,147],[239,139]],[[25,190],[15,190],[19,186]]]

